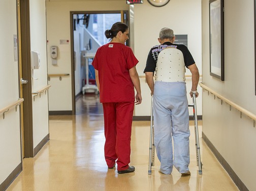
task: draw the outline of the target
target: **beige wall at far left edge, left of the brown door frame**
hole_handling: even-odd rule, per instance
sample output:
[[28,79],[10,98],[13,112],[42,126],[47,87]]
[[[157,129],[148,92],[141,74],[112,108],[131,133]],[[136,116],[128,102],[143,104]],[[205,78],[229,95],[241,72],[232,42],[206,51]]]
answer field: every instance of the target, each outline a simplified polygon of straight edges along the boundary
[[[16,0],[2,0],[0,14],[0,109],[3,109],[19,98],[18,62],[14,61],[13,44],[13,35],[17,35]],[[21,163],[19,115],[19,106],[17,111],[10,108],[5,119],[0,115],[0,184]]]

